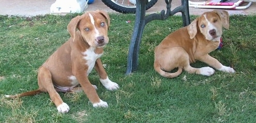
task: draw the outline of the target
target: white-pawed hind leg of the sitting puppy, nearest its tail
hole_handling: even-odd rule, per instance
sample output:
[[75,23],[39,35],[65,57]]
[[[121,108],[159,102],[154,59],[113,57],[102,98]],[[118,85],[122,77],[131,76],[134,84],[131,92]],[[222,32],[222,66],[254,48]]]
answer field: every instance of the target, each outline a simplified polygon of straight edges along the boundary
[[57,93],[53,86],[51,72],[44,67],[38,70],[38,85],[42,91],[47,91],[51,100],[56,105],[58,112],[66,113],[69,111],[69,106],[63,102],[61,96]]

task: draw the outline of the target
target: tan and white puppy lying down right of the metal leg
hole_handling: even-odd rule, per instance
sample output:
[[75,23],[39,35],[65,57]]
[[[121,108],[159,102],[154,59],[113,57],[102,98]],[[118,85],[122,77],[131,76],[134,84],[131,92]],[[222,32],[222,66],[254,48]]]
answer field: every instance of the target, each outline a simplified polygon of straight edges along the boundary
[[[223,66],[217,59],[209,55],[220,44],[222,26],[229,28],[227,11],[214,10],[203,13],[190,25],[169,34],[155,49],[154,69],[162,76],[175,78],[182,69],[189,73],[212,75],[215,69],[234,73],[231,67]],[[193,68],[190,63],[200,60],[210,67]],[[178,70],[174,73],[174,68]]]

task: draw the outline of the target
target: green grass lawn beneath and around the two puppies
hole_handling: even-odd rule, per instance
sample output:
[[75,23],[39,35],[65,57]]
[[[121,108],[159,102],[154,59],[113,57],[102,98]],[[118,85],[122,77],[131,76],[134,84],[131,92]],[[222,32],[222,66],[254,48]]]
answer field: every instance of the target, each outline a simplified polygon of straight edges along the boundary
[[[0,16],[0,122],[254,122],[256,117],[256,16],[231,16],[221,50],[210,55],[234,74],[183,72],[167,79],[154,71],[154,48],[182,27],[180,16],[152,21],[144,29],[139,69],[125,75],[134,15],[110,14],[110,42],[101,57],[120,89],[106,90],[93,71],[91,82],[109,107],[94,108],[84,93],[63,94],[70,106],[57,113],[46,93],[19,99],[4,95],[37,89],[37,69],[69,39],[67,24],[78,14],[33,18]],[[191,20],[195,17],[192,16]],[[125,21],[131,20],[131,23]],[[207,66],[199,61],[194,67]]]

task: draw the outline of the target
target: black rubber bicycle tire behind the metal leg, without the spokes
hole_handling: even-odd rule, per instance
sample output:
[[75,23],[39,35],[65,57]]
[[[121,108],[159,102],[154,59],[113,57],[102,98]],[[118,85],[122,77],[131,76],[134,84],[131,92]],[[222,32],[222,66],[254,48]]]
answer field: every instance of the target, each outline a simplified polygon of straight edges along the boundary
[[[107,5],[109,8],[120,12],[120,13],[135,13],[136,11],[136,6],[126,6],[126,5],[121,5],[116,2],[116,0],[101,0],[105,5]],[[158,0],[150,0],[148,4],[146,5],[146,10],[151,8],[156,4]]]

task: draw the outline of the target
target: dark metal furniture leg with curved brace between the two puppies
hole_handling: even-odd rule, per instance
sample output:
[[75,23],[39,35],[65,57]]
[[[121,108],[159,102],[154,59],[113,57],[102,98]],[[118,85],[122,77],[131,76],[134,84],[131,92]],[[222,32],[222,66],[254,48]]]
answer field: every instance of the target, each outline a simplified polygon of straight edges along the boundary
[[130,74],[138,68],[138,56],[140,50],[141,37],[143,29],[148,22],[153,20],[165,20],[168,17],[173,16],[177,12],[182,12],[183,26],[187,26],[190,24],[188,0],[181,1],[182,5],[171,10],[172,0],[165,0],[165,3],[167,4],[166,12],[162,10],[160,13],[149,14],[146,17],[146,4],[148,3],[148,1],[136,0],[136,17],[127,58],[126,74]]

